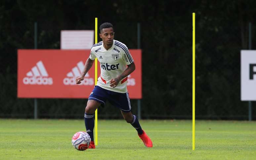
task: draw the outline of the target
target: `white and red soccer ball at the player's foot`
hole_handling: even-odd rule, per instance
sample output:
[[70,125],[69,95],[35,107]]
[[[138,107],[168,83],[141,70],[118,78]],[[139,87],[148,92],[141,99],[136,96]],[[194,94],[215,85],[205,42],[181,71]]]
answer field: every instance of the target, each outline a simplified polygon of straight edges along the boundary
[[72,137],[72,145],[77,150],[86,150],[88,149],[91,137],[86,132],[77,132]]

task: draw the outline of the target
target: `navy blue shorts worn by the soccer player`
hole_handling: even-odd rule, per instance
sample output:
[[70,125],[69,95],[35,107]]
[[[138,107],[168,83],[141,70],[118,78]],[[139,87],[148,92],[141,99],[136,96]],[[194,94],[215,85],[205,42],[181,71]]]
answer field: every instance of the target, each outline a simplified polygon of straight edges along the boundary
[[124,112],[131,111],[131,104],[128,92],[118,93],[106,90],[99,86],[95,86],[88,100],[96,100],[102,105],[105,105],[106,100],[108,100],[112,105],[120,108]]

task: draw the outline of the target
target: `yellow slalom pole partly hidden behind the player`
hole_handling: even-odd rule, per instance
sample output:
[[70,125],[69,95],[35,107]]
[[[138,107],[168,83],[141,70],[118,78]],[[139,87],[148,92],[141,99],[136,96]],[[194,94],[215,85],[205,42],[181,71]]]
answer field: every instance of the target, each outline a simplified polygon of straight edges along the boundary
[[[98,43],[98,18],[95,18],[95,44]],[[95,86],[98,79],[98,60],[95,59]],[[98,145],[98,109],[95,111],[95,145]]]

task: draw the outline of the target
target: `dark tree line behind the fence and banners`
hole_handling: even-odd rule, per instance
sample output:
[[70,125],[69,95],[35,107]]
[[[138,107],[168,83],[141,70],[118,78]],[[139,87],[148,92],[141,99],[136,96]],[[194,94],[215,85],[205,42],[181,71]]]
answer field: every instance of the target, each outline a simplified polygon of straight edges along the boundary
[[[111,22],[115,39],[129,48],[137,48],[137,23],[141,24],[142,117],[190,118],[195,12],[196,116],[246,119],[248,104],[240,101],[240,50],[248,49],[249,22],[255,42],[255,5],[256,1],[250,0],[2,0],[0,117],[33,115],[33,100],[17,99],[17,49],[34,48],[34,22],[38,24],[38,49],[59,49],[61,30],[94,29],[94,18],[98,17],[99,24]],[[82,117],[86,102],[38,101],[40,117],[56,118]],[[137,101],[132,104],[136,112]],[[120,115],[111,106],[100,108],[99,114],[105,118]]]

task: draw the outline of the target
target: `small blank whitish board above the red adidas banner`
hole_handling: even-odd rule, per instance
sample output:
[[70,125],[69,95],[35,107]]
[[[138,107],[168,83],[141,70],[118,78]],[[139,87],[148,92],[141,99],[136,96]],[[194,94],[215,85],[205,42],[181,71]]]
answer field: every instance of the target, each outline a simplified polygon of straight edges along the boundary
[[62,30],[61,49],[86,50],[94,44],[94,30]]

